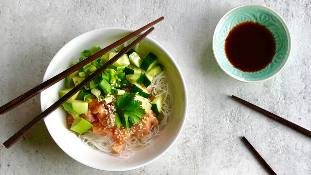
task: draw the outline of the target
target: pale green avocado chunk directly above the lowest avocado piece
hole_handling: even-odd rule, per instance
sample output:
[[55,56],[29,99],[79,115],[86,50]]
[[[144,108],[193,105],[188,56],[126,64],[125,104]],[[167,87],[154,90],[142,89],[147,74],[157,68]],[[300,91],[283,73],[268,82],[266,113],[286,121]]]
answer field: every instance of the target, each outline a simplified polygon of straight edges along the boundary
[[88,103],[83,100],[67,100],[63,103],[63,106],[66,111],[74,112],[77,114],[86,114],[87,113]]

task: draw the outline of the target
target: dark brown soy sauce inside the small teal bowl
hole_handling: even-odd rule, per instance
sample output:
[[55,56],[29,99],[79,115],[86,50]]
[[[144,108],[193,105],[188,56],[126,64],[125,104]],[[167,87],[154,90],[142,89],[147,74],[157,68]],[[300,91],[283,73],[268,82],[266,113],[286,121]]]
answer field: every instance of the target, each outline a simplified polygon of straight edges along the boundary
[[225,40],[225,53],[236,69],[258,72],[272,62],[276,43],[267,26],[246,21],[230,30]]

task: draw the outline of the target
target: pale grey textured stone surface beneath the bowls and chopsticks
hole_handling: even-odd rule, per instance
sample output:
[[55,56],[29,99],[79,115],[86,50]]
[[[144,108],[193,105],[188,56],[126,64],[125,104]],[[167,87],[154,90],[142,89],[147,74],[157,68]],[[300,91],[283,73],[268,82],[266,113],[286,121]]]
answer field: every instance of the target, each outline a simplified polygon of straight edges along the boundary
[[[246,3],[274,9],[291,32],[287,65],[263,83],[230,78],[218,67],[211,49],[220,17]],[[151,37],[183,70],[189,95],[187,123],[165,155],[132,171],[99,171],[60,150],[44,123],[5,149],[2,143],[40,113],[37,96],[0,116],[0,174],[267,174],[241,136],[277,174],[310,174],[310,138],[230,99],[230,95],[242,97],[311,129],[308,0],[0,0],[0,105],[41,83],[50,60],[77,35],[101,27],[137,29],[161,16],[165,20],[155,26]]]

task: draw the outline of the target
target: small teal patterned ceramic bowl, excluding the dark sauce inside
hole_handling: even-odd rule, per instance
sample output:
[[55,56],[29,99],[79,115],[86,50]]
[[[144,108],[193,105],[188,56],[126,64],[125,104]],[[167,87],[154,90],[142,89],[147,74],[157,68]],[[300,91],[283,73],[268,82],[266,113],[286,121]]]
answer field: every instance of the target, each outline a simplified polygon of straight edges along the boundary
[[[248,73],[234,68],[225,54],[225,39],[229,31],[237,24],[245,21],[254,21],[273,33],[276,41],[276,54],[272,63],[261,71]],[[247,4],[227,12],[216,25],[213,35],[213,52],[220,68],[229,76],[246,83],[258,83],[268,80],[279,73],[290,56],[290,32],[284,20],[268,7]]]

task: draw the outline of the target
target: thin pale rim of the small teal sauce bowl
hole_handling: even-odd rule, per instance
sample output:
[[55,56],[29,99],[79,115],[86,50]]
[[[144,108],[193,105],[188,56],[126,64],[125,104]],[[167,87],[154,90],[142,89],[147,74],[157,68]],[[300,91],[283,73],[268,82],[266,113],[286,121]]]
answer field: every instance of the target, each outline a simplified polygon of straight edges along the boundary
[[[214,38],[216,37],[216,33],[217,33],[216,29],[220,26],[221,21],[223,21],[223,19],[224,19],[229,13],[231,13],[232,11],[234,11],[234,10],[236,10],[236,9],[238,9],[238,8],[241,8],[241,7],[246,7],[246,6],[258,6],[258,7],[263,7],[263,8],[266,8],[267,10],[271,11],[272,13],[274,13],[277,17],[279,17],[279,18],[281,19],[282,23],[283,23],[284,26],[285,26],[285,30],[288,32],[288,36],[289,36],[289,37],[288,37],[288,40],[289,40],[289,52],[288,52],[288,55],[287,55],[287,58],[286,58],[286,60],[285,60],[284,65],[281,67],[281,69],[279,69],[276,73],[274,73],[274,74],[271,75],[270,77],[265,78],[265,79],[262,79],[262,80],[258,80],[258,81],[248,81],[248,80],[240,79],[240,78],[238,78],[238,77],[233,77],[233,76],[231,76],[231,75],[228,73],[228,71],[227,71],[225,68],[223,68],[222,65],[218,62],[218,58],[217,58],[217,56],[216,56],[216,54],[215,54],[215,49],[214,49],[214,47],[215,47],[215,40],[214,40]],[[236,79],[236,80],[238,80],[238,81],[240,81],[240,82],[244,82],[244,83],[260,83],[260,82],[266,81],[266,80],[268,80],[268,79],[270,79],[270,78],[276,76],[276,74],[278,74],[279,72],[281,72],[281,70],[285,67],[285,65],[286,65],[286,63],[287,63],[287,61],[288,61],[288,59],[289,59],[289,57],[290,57],[290,52],[291,52],[291,36],[290,36],[290,30],[288,29],[288,26],[287,26],[287,24],[285,23],[285,21],[283,20],[283,18],[282,18],[277,12],[275,12],[274,10],[272,10],[271,8],[266,7],[266,6],[263,6],[263,5],[258,5],[258,4],[244,4],[244,5],[240,5],[240,6],[234,7],[233,9],[229,10],[228,12],[226,12],[226,13],[220,18],[220,20],[218,21],[218,23],[217,23],[217,25],[216,25],[216,27],[215,27],[215,30],[214,30],[213,39],[212,39],[212,49],[213,49],[213,54],[214,54],[214,57],[215,57],[215,59],[216,59],[217,64],[219,65],[220,69],[221,69],[222,71],[224,71],[227,75],[229,75],[230,77],[232,77],[232,78],[234,78],[234,79]]]

